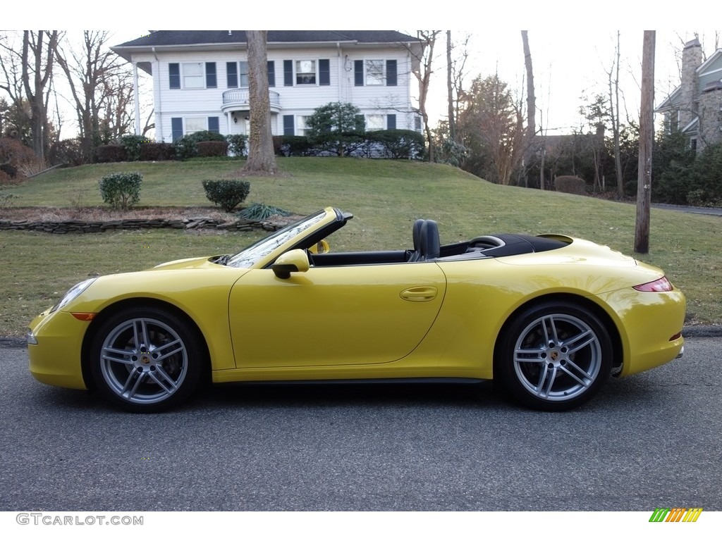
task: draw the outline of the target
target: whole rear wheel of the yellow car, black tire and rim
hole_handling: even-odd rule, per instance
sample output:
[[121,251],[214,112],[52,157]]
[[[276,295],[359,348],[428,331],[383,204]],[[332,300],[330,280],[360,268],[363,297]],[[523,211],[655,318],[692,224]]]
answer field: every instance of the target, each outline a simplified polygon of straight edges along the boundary
[[505,329],[494,377],[528,408],[570,410],[591,400],[609,379],[612,351],[612,339],[593,312],[571,302],[544,302]]

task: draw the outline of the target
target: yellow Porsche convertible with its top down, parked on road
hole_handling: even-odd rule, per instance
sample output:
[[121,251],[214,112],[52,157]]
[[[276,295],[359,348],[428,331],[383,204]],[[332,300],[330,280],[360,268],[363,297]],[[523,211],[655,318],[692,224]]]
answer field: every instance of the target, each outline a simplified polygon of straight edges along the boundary
[[608,247],[523,234],[440,245],[436,222],[417,220],[408,250],[331,252],[351,218],[329,207],[235,255],[78,283],[30,324],[30,372],[134,412],[204,381],[484,379],[567,410],[609,374],[682,355],[682,292]]

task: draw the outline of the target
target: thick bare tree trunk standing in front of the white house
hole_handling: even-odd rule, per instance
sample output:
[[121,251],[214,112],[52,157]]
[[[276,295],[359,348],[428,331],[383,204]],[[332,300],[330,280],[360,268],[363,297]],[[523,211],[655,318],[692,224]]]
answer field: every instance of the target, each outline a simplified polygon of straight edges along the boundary
[[246,30],[248,40],[248,102],[251,105],[251,133],[248,134],[248,160],[244,171],[278,172],[271,135],[271,103],[269,101],[267,30]]

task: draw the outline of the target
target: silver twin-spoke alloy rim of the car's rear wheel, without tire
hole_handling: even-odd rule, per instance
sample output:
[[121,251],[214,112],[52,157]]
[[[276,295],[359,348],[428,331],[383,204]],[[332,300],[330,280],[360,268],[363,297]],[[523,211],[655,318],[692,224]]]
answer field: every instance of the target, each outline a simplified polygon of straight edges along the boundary
[[583,395],[599,376],[602,347],[578,317],[549,314],[532,321],[514,346],[514,371],[540,400],[563,402]]

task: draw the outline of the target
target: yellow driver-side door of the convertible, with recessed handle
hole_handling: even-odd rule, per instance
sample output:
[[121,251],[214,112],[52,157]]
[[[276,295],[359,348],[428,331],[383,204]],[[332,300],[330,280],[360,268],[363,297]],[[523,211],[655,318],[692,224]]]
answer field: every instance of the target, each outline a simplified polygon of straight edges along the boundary
[[238,368],[375,364],[421,342],[443,302],[435,263],[253,269],[230,292]]

